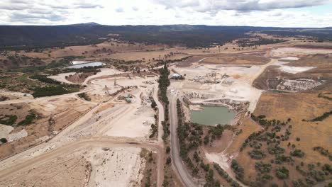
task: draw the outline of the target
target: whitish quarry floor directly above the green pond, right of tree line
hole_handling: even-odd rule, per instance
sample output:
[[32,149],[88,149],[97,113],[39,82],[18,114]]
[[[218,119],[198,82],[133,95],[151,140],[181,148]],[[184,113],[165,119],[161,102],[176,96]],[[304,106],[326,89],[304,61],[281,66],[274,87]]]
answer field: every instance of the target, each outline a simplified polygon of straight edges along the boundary
[[[249,101],[249,111],[254,111],[255,106],[262,94],[262,91],[255,89],[250,85],[250,79],[253,79],[260,66],[246,67],[216,67],[210,65],[202,65],[194,68],[177,68],[180,74],[186,74],[185,81],[175,82],[175,89],[184,91],[194,91],[200,93],[204,98],[211,99],[230,99],[233,101]],[[214,82],[214,76],[210,76],[211,72],[215,72],[217,84],[205,83],[206,80]],[[226,74],[228,77],[223,77]],[[199,79],[199,82],[195,81]]]

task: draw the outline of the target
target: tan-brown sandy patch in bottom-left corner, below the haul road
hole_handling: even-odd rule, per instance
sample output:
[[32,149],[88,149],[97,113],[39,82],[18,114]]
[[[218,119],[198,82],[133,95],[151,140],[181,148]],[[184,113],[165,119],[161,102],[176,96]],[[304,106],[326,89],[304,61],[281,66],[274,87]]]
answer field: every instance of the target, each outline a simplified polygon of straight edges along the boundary
[[45,164],[16,172],[0,186],[84,186],[89,176],[89,163],[74,155],[57,157]]

